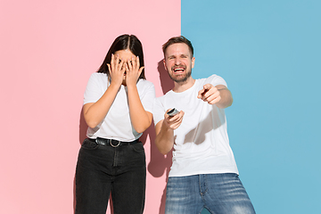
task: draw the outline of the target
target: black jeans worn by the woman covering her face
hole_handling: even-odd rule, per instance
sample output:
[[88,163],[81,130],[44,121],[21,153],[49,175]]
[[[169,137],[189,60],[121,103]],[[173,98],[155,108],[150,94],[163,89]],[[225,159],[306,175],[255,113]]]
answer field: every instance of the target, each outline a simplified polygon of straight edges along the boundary
[[76,168],[76,214],[105,214],[111,193],[114,214],[144,210],[146,162],[142,143],[114,148],[86,139]]

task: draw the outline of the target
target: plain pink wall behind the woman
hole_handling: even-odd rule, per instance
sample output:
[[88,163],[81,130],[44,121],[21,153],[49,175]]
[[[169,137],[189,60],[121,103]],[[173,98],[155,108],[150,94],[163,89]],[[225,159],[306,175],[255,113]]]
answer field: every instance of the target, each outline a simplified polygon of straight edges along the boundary
[[[146,78],[157,96],[169,90],[161,45],[180,35],[180,1],[118,2],[1,0],[0,213],[73,212],[83,93],[115,37],[139,37]],[[153,139],[152,126],[142,137],[149,214],[163,213],[171,161]]]

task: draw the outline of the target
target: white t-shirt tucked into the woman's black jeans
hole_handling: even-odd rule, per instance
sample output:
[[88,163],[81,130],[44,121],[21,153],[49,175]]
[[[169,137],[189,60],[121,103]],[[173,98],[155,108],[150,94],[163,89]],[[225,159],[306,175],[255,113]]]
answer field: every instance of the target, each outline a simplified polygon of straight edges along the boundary
[[[109,86],[108,77],[104,73],[93,73],[88,80],[84,95],[84,104],[97,102]],[[139,79],[137,91],[144,110],[152,112],[152,103],[155,99],[155,88],[152,82]],[[137,133],[133,128],[129,116],[127,86],[120,86],[111,108],[103,121],[95,128],[88,128],[86,136],[97,136],[119,141],[134,141],[142,133]]]

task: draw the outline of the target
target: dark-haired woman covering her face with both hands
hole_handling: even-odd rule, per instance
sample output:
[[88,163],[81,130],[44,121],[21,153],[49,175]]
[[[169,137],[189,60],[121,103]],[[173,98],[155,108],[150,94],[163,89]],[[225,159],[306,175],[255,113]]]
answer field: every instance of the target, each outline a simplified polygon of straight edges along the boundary
[[88,125],[76,169],[76,213],[143,213],[146,164],[139,137],[152,123],[155,89],[144,78],[143,47],[134,35],[112,43],[86,86]]

